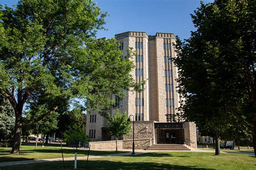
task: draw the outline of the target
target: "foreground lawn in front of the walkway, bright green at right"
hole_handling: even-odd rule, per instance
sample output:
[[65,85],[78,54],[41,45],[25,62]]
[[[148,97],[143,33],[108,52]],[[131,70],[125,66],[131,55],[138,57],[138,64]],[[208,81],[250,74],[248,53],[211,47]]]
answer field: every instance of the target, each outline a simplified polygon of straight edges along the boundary
[[[255,169],[256,158],[245,154],[199,152],[157,152],[136,156],[91,159],[86,169]],[[77,167],[85,169],[86,161]],[[65,161],[65,169],[73,168],[73,161]],[[3,169],[64,169],[62,162],[2,167]]]

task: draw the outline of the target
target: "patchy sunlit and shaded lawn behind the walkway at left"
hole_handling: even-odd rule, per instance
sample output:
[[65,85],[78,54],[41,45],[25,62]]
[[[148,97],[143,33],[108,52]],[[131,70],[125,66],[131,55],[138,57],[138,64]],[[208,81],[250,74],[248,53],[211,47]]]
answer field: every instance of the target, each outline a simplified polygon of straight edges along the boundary
[[[10,147],[0,147],[0,162],[6,161],[19,161],[19,160],[32,160],[32,159],[48,159],[48,158],[62,158],[62,152],[58,144],[51,144],[50,146],[38,146],[35,148],[33,143],[21,145],[19,155],[10,154]],[[79,150],[79,157],[87,156],[88,150]],[[112,154],[112,153],[122,153],[119,151],[90,151],[90,155],[102,155],[102,154]],[[69,147],[63,147],[63,154],[65,158],[73,157],[75,151]]]

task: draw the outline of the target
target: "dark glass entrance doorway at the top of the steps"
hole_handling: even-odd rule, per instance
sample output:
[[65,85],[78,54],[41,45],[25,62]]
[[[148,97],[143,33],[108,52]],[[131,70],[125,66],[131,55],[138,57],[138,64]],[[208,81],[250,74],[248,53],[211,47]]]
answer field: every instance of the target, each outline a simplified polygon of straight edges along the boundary
[[157,129],[157,144],[183,144],[184,129]]

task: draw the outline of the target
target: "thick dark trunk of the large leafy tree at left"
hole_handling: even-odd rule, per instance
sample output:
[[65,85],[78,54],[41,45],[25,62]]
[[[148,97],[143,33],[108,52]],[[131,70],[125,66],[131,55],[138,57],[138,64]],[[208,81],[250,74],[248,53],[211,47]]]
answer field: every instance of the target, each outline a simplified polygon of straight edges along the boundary
[[11,153],[19,154],[19,146],[21,145],[22,124],[18,120],[15,122],[14,136],[12,137]]

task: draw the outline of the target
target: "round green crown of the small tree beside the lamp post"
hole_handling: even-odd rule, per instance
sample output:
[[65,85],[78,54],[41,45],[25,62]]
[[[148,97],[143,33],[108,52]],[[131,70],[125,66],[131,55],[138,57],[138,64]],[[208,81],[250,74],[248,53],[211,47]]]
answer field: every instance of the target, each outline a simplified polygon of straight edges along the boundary
[[131,131],[131,123],[127,121],[126,112],[122,114],[118,110],[114,112],[113,117],[109,115],[107,119],[110,136],[121,138]]

